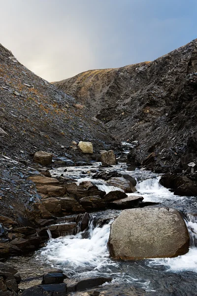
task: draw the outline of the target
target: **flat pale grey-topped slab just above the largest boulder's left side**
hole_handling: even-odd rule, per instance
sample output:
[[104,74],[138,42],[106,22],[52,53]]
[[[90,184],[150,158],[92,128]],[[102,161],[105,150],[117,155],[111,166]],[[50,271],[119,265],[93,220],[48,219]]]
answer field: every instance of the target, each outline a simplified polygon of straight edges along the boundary
[[118,199],[113,202],[109,202],[107,207],[110,209],[118,209],[118,210],[124,210],[124,209],[131,209],[133,207],[136,207],[140,201],[142,201],[144,198],[142,196],[128,196],[123,199]]

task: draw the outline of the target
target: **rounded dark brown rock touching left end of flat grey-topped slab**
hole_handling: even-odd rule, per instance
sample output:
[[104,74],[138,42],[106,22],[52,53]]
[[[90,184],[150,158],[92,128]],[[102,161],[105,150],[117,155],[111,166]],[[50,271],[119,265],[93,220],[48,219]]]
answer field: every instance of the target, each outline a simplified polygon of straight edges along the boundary
[[80,203],[86,211],[101,210],[106,207],[105,202],[98,195],[83,197],[80,199]]

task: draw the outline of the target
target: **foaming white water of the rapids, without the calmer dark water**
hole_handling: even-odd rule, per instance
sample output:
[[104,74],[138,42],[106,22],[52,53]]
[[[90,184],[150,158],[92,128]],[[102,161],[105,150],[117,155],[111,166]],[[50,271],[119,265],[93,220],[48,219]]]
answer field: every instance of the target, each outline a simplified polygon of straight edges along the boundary
[[[164,206],[169,207],[173,206],[173,204],[183,206],[184,202],[190,199],[174,195],[159,184],[159,179],[160,177],[146,179],[138,183],[136,186],[138,193],[132,194],[143,196],[144,201],[160,202]],[[78,183],[87,180],[98,182],[98,180],[83,178],[78,180]],[[98,187],[99,189],[106,190],[107,185],[103,182]],[[109,188],[108,186],[107,189],[109,192],[110,190],[117,190],[117,187]],[[102,227],[98,225],[94,227],[93,218],[89,224],[86,238],[84,238],[84,233],[80,232],[76,235],[50,239],[46,247],[39,251],[38,258],[40,259],[41,257],[45,262],[52,264],[54,267],[65,269],[70,276],[110,276],[115,281],[137,282],[141,287],[146,286],[147,288],[149,283],[147,279],[142,280],[139,277],[134,277],[130,270],[127,271],[126,267],[123,268],[123,263],[109,258],[107,241],[110,224],[113,222],[113,219]],[[146,259],[144,262],[147,268],[154,268],[155,270],[158,266],[164,266],[165,271],[193,271],[197,273],[197,216],[188,214],[185,222],[191,237],[190,251],[186,255],[176,258]]]

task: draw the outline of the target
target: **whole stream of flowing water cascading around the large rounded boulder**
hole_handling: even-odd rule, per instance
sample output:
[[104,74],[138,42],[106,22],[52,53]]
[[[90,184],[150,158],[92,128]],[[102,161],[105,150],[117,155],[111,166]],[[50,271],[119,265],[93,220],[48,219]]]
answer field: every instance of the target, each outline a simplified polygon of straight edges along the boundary
[[[53,176],[71,176],[78,184],[91,181],[106,192],[117,190],[107,186],[103,180],[94,180],[93,167],[65,168],[53,171]],[[130,174],[137,180],[138,193],[144,201],[160,203],[157,206],[175,208],[184,214],[190,234],[190,250],[176,258],[145,259],[139,261],[116,261],[109,258],[107,241],[110,225],[121,213],[106,210],[91,214],[88,230],[76,235],[62,236],[50,240],[44,248],[35,252],[34,263],[62,268],[66,275],[74,279],[105,276],[112,277],[111,284],[135,286],[145,289],[146,295],[193,296],[197,295],[197,197],[176,196],[159,184],[161,176],[149,171],[128,171],[125,164],[114,166],[114,170]],[[91,172],[91,170],[93,172]],[[50,235],[50,233],[49,233]]]

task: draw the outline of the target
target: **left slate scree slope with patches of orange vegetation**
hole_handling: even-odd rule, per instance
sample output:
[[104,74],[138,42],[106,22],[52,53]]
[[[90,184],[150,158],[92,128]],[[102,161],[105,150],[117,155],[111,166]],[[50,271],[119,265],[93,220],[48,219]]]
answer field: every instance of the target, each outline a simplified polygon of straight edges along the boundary
[[0,44],[0,210],[12,215],[38,198],[33,184],[33,153],[53,152],[75,161],[83,155],[72,141],[90,141],[94,151],[114,141],[87,108],[21,65]]

